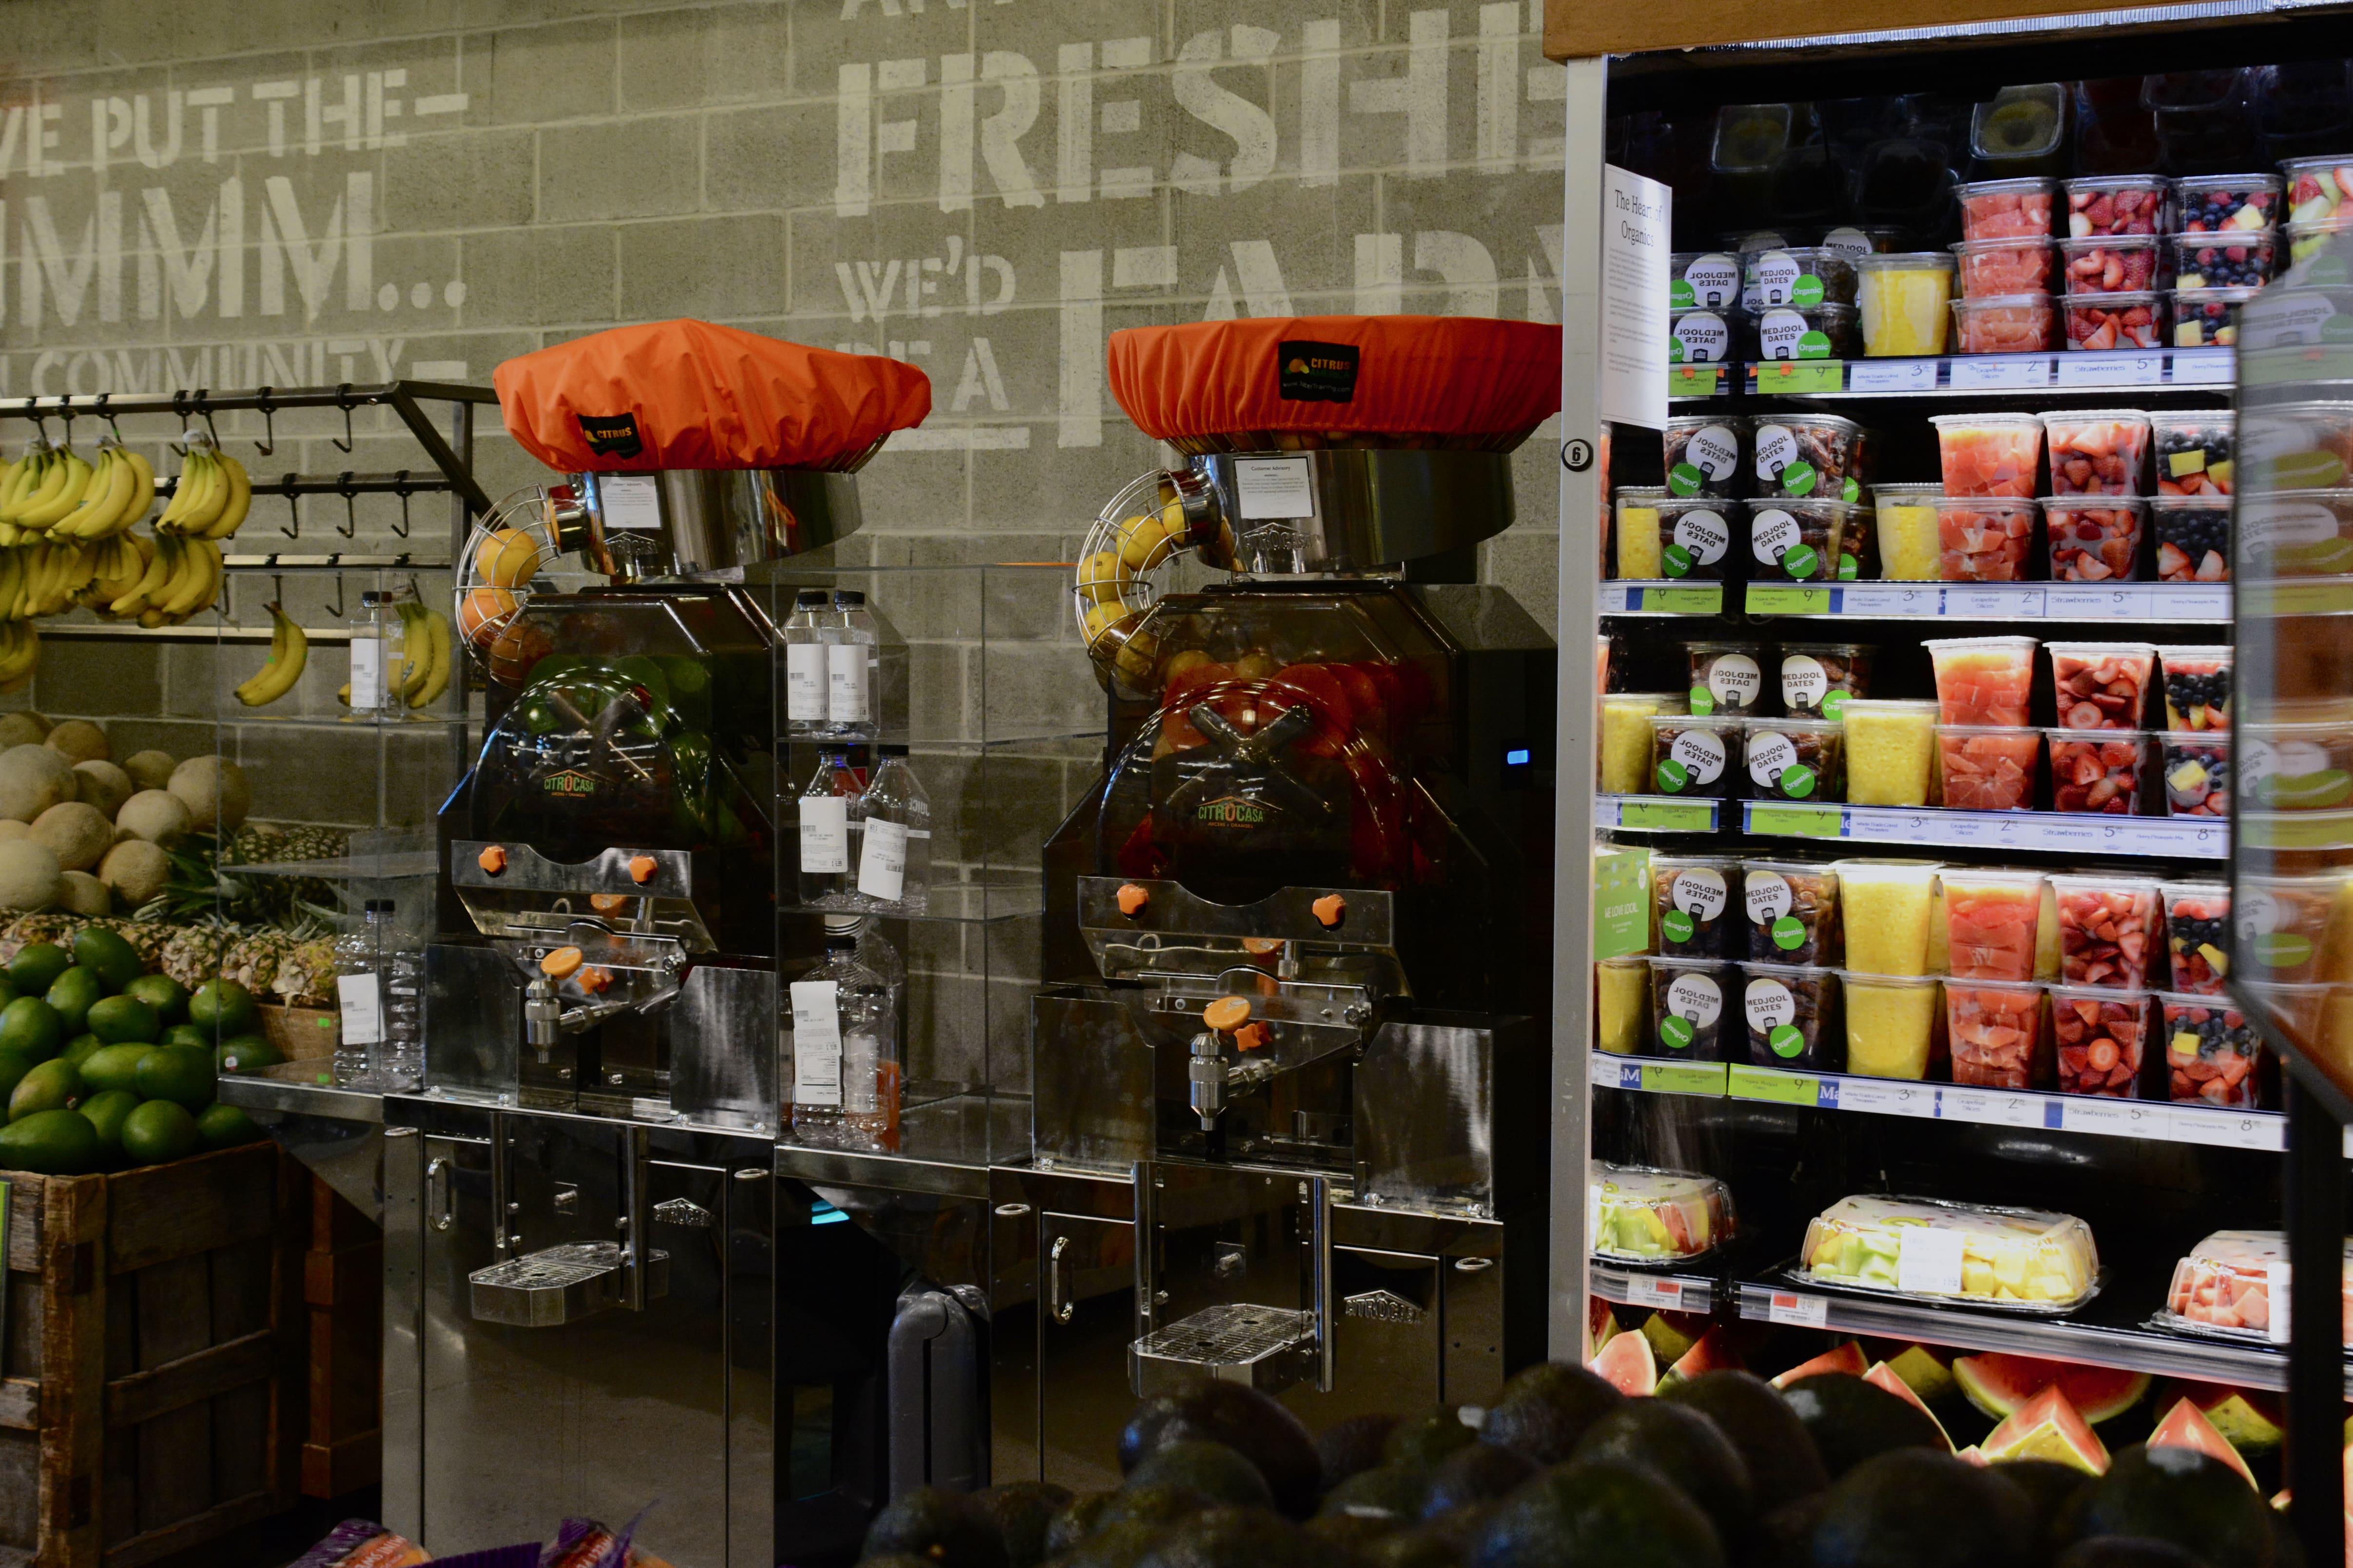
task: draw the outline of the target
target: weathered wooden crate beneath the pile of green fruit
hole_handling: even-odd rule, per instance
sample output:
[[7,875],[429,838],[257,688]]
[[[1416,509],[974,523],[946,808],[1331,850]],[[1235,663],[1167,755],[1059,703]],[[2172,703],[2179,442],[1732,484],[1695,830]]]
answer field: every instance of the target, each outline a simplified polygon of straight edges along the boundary
[[12,1182],[0,1568],[139,1568],[292,1505],[308,1175],[275,1143]]

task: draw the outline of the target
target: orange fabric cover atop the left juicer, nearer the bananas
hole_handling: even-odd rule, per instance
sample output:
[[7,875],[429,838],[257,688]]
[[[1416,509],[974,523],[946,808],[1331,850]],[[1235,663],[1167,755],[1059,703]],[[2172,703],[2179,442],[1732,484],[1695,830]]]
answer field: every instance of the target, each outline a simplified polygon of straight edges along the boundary
[[492,381],[508,435],[562,473],[849,470],[932,411],[913,364],[692,320],[541,348]]

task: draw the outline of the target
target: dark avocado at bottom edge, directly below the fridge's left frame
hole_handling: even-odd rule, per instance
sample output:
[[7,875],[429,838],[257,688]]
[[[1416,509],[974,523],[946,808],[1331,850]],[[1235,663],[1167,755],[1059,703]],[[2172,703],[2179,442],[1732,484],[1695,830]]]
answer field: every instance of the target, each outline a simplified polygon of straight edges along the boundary
[[1624,1460],[1546,1469],[1506,1497],[1471,1568],[1722,1568],[1725,1547],[1697,1502]]

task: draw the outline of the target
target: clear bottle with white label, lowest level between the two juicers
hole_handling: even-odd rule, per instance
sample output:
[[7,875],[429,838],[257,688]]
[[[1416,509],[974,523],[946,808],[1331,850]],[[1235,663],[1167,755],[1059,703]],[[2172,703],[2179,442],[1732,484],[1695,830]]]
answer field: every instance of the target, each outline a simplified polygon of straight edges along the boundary
[[889,987],[859,964],[859,919],[826,917],[826,961],[791,983],[793,1135],[852,1150],[899,1143],[899,1032]]

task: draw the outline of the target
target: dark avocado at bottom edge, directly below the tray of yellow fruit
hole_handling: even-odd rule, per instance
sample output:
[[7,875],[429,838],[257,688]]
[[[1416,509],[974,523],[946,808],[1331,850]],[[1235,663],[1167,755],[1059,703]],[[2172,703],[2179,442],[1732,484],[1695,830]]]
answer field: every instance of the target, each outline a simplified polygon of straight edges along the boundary
[[2035,1556],[2026,1493],[1927,1448],[1889,1448],[1833,1481],[1812,1542],[1814,1568],[1984,1568]]

